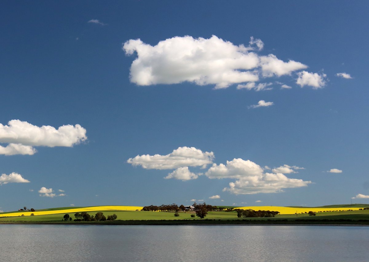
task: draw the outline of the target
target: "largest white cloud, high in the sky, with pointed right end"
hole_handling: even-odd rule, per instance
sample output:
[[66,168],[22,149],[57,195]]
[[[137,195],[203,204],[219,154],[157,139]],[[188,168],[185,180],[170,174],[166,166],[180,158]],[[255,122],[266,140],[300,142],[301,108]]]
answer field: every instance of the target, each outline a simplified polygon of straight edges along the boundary
[[307,68],[300,62],[283,62],[273,54],[259,56],[256,51],[263,46],[260,39],[253,37],[249,46],[245,46],[234,45],[215,35],[208,39],[187,35],[168,38],[154,46],[141,39],[130,39],[122,49],[127,55],[137,53],[130,68],[130,80],[141,86],[191,82],[220,89],[257,82],[259,76],[279,77]]

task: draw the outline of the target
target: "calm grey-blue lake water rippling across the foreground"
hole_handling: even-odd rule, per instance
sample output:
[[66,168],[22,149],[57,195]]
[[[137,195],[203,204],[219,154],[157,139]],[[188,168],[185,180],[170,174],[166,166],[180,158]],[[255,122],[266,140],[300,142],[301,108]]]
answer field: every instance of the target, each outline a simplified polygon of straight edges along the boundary
[[369,227],[0,225],[0,261],[369,261]]

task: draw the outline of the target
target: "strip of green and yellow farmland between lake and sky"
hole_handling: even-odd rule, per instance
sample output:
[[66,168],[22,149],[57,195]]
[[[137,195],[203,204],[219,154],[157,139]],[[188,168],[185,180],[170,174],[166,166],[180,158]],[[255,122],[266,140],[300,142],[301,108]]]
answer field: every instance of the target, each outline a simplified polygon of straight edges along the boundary
[[[369,205],[335,205],[323,207],[241,207],[244,209],[254,210],[275,210],[281,214],[273,218],[238,218],[236,212],[225,211],[209,211],[205,219],[198,217],[192,218],[194,212],[179,212],[179,217],[174,216],[174,212],[151,212],[151,211],[136,211],[142,207],[131,206],[96,206],[96,207],[59,207],[43,210],[35,210],[35,212],[16,211],[0,213],[0,224],[13,223],[56,223],[56,224],[363,224],[369,225],[369,210],[358,210]],[[353,209],[352,211],[344,211]],[[316,212],[316,216],[308,216],[308,211]],[[337,211],[336,211],[337,210]],[[341,211],[339,211],[341,210]],[[86,211],[90,215],[95,215],[97,212],[103,212],[107,217],[112,214],[117,215],[117,221],[93,221],[93,222],[74,222],[62,221],[64,214],[69,214],[74,219],[74,214],[77,212]],[[325,212],[323,212],[325,211]],[[295,214],[295,213],[298,214]],[[305,213],[306,212],[306,213]],[[30,216],[34,213],[35,216]],[[25,214],[25,216],[21,216]]]

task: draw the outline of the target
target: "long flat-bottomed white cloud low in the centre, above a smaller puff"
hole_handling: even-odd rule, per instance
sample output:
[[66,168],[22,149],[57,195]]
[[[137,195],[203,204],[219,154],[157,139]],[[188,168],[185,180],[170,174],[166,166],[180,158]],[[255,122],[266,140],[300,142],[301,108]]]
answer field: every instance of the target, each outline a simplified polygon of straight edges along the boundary
[[137,155],[127,160],[133,166],[145,169],[177,169],[184,166],[202,166],[213,163],[213,152],[202,152],[194,147],[179,147],[168,155]]

